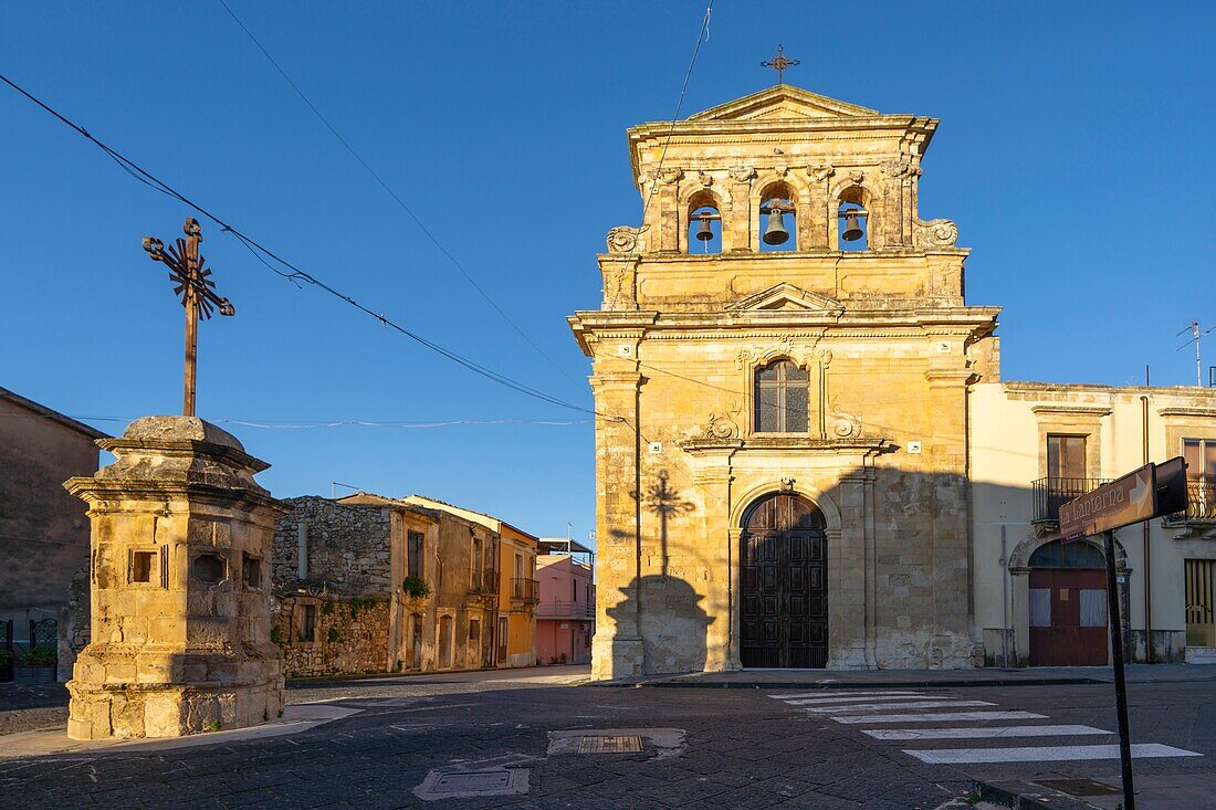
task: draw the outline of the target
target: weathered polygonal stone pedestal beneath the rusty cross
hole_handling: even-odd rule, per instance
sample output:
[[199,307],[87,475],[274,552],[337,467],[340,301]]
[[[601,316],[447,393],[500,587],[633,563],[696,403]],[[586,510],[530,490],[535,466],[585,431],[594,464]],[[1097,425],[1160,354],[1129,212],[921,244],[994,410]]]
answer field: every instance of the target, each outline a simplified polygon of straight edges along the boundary
[[92,639],[77,658],[68,736],[179,737],[282,714],[270,640],[270,555],[287,510],[254,480],[269,465],[193,416],[146,416],[92,478]]

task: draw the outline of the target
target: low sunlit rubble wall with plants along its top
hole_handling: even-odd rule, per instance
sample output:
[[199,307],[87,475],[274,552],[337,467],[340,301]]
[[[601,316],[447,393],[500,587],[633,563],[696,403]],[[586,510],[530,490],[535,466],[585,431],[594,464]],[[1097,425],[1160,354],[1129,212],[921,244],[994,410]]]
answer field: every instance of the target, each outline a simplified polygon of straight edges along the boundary
[[[288,677],[370,674],[388,669],[390,609],[385,600],[285,596],[277,600],[271,639],[283,651]],[[305,606],[316,623],[302,639]]]

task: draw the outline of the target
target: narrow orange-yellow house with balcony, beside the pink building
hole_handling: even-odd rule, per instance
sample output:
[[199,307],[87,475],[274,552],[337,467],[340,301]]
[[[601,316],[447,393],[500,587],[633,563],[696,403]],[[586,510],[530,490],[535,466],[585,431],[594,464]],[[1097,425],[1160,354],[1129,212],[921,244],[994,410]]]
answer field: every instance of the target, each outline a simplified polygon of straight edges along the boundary
[[401,499],[426,508],[439,510],[478,523],[497,535],[497,615],[494,621],[494,660],[496,666],[531,666],[536,663],[536,547],[535,535],[496,517],[461,508],[422,495]]

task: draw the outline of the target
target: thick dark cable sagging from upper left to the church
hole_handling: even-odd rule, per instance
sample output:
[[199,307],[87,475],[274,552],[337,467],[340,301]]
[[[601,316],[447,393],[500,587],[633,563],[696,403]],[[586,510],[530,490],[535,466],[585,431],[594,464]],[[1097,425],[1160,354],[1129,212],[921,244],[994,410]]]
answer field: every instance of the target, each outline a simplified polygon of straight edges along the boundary
[[[55,108],[52,108],[50,105],[47,105],[43,100],[40,100],[36,96],[34,96],[32,92],[29,92],[28,90],[26,90],[24,88],[22,88],[21,85],[18,85],[16,81],[13,81],[12,79],[10,79],[7,75],[0,73],[0,81],[4,81],[10,88],[12,88],[13,90],[16,90],[21,95],[26,96],[26,99],[28,99],[29,101],[34,102],[39,107],[41,107],[46,113],[54,116],[61,123],[63,123],[64,125],[67,125],[68,128],[71,128],[72,130],[74,130],[77,134],[79,134],[80,136],[83,136],[84,139],[86,139],[88,141],[90,141],[91,144],[94,144],[97,148],[100,148],[102,152],[105,152],[111,159],[113,159],[116,163],[118,163],[118,165],[122,167],[124,171],[126,171],[129,175],[131,175],[133,178],[135,178],[140,182],[142,182],[142,184],[145,184],[145,185],[154,189],[156,191],[159,191],[161,193],[163,193],[163,195],[165,195],[168,197],[178,199],[179,202],[185,203],[186,206],[190,206],[191,208],[193,208],[195,210],[197,210],[198,213],[201,213],[203,216],[206,216],[207,219],[209,219],[213,223],[215,223],[216,225],[219,225],[220,229],[223,229],[224,232],[231,234],[237,240],[240,240],[242,243],[244,243],[244,246],[247,248],[249,248],[249,251],[253,252],[255,255],[258,253],[260,253],[261,255],[264,255],[264,257],[274,260],[275,263],[277,263],[281,266],[287,268],[287,270],[289,270],[289,272],[278,270],[278,269],[271,266],[268,261],[263,260],[263,264],[265,264],[268,268],[270,268],[270,270],[272,270],[277,275],[280,275],[280,276],[282,276],[282,277],[285,277],[285,279],[287,279],[289,281],[293,281],[293,282],[305,281],[305,282],[308,282],[310,285],[314,285],[315,287],[319,287],[320,289],[323,289],[325,292],[330,293],[334,298],[338,298],[338,299],[345,302],[347,304],[349,304],[350,306],[354,306],[355,309],[362,311],[364,314],[371,315],[377,321],[379,321],[383,326],[385,326],[388,328],[392,328],[392,330],[395,330],[396,332],[400,332],[405,337],[410,338],[411,341],[415,341],[416,343],[418,343],[420,345],[426,347],[427,349],[430,349],[435,354],[439,354],[439,355],[441,355],[441,356],[451,360],[452,362],[456,362],[456,364],[463,366],[465,369],[467,369],[467,370],[469,370],[469,371],[472,371],[472,372],[474,372],[477,375],[480,375],[482,377],[485,377],[486,379],[489,379],[489,381],[491,381],[494,383],[497,383],[497,384],[500,384],[500,386],[502,386],[505,388],[510,388],[510,389],[512,389],[512,390],[514,390],[517,393],[524,394],[525,396],[531,396],[534,399],[539,399],[539,400],[548,403],[551,405],[557,405],[558,407],[564,407],[564,409],[568,409],[568,410],[572,410],[572,411],[579,411],[579,412],[582,412],[582,414],[596,415],[596,411],[593,411],[592,409],[584,407],[581,405],[575,405],[574,403],[569,403],[569,401],[563,400],[563,399],[561,399],[558,396],[553,396],[553,395],[547,394],[547,393],[545,393],[542,390],[539,390],[536,388],[527,386],[527,384],[524,384],[524,383],[522,383],[522,382],[519,382],[517,379],[513,379],[513,378],[511,378],[511,377],[508,377],[508,376],[506,376],[503,373],[494,371],[492,369],[483,366],[483,365],[480,365],[480,364],[478,364],[478,362],[475,362],[475,361],[473,361],[473,360],[471,360],[468,358],[465,358],[463,355],[457,354],[456,351],[452,351],[451,349],[447,349],[447,348],[445,348],[445,347],[443,347],[443,345],[440,345],[440,344],[438,344],[438,343],[435,343],[433,341],[429,341],[429,339],[422,337],[421,334],[418,334],[418,333],[416,333],[416,332],[413,332],[413,331],[411,331],[411,330],[401,326],[400,324],[398,324],[398,322],[393,321],[392,319],[389,319],[388,316],[385,316],[383,313],[377,313],[377,311],[375,311],[372,309],[368,309],[367,306],[365,306],[364,304],[359,303],[358,300],[355,300],[350,296],[347,296],[345,293],[339,292],[338,289],[336,289],[336,288],[331,287],[330,285],[325,283],[323,281],[321,281],[320,279],[317,279],[313,274],[310,274],[310,272],[300,269],[299,266],[297,266],[295,264],[292,264],[287,259],[283,259],[277,253],[275,253],[270,248],[263,246],[257,240],[247,236],[241,230],[233,227],[231,224],[229,224],[226,220],[221,219],[219,215],[213,214],[207,207],[204,207],[204,206],[202,206],[202,204],[199,204],[199,203],[190,199],[188,197],[186,197],[185,195],[182,195],[181,192],[179,192],[176,189],[174,189],[173,186],[170,186],[168,182],[161,180],[154,174],[152,174],[151,171],[147,171],[146,169],[143,169],[142,167],[140,167],[137,163],[135,163],[130,158],[128,158],[128,157],[123,156],[122,153],[119,153],[118,151],[111,148],[109,146],[107,146],[106,144],[103,144],[102,141],[100,141],[98,139],[96,139],[84,126],[80,126],[75,122],[68,119],[66,116],[63,116],[62,113],[60,113],[58,111],[56,111]],[[259,257],[259,258],[261,258],[261,257]]]

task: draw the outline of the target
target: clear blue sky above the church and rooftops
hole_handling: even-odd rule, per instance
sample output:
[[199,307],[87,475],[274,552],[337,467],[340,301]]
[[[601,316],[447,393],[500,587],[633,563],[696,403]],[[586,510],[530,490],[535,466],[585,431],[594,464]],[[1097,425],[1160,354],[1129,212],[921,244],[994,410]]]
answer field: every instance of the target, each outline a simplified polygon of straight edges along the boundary
[[[229,0],[328,120],[552,364],[343,150],[218,2],[0,1],[0,71],[317,277],[591,405],[565,324],[636,224],[625,129],[670,118],[704,13],[665,4]],[[914,12],[913,12],[914,10]],[[1193,384],[1216,326],[1216,6],[719,2],[685,114],[773,83],[942,119],[921,213],[973,248],[1009,379]],[[181,309],[140,248],[192,212],[0,86],[0,386],[74,416],[180,407]],[[203,223],[235,319],[202,326],[199,415],[578,420],[499,388]],[[1205,365],[1216,364],[1216,333]],[[92,423],[108,431],[120,422]],[[422,493],[537,534],[593,525],[591,426],[255,428],[276,495]]]

